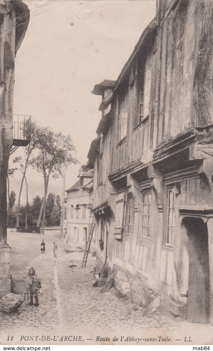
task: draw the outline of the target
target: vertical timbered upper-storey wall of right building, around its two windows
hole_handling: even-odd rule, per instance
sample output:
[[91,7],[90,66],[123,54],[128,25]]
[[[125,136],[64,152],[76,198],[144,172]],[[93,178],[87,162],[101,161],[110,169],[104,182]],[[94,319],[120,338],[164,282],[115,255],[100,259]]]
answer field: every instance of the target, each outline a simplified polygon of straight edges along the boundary
[[[155,41],[138,52],[123,81],[122,88],[128,87],[129,91],[127,135],[123,143],[119,143],[118,139],[118,96],[122,89],[114,94],[111,173],[136,160],[148,163],[157,146],[198,124],[193,95],[198,54],[195,33],[198,31],[199,12],[196,1],[187,4],[187,1],[180,1],[175,10],[165,17],[157,35],[152,38]],[[149,119],[134,128],[139,67],[144,64],[149,51],[152,53]]]

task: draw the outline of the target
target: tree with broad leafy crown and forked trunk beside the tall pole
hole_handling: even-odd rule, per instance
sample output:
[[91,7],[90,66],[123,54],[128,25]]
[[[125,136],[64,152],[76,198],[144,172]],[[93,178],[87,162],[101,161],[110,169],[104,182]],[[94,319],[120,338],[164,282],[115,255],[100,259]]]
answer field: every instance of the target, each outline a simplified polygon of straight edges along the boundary
[[[77,164],[76,158],[72,157],[71,152],[75,151],[70,135],[54,133],[49,127],[40,127],[37,129],[38,143],[36,144],[37,156],[33,157],[30,164],[38,172],[43,173],[44,177],[44,198],[38,217],[37,226],[40,226],[42,218],[42,234],[44,234],[44,223],[46,214],[46,198],[50,176],[53,179],[62,176],[62,164],[65,161],[65,151],[67,154],[67,164]],[[43,214],[43,217],[42,217]]]

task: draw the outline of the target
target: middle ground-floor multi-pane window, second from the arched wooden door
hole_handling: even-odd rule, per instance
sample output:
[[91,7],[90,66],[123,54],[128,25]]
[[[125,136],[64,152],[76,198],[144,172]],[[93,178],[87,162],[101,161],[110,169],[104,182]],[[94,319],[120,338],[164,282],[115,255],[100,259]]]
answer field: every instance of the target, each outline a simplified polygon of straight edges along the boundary
[[151,191],[142,194],[141,204],[141,237],[149,238],[150,236],[150,205],[151,205]]

